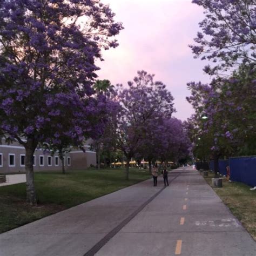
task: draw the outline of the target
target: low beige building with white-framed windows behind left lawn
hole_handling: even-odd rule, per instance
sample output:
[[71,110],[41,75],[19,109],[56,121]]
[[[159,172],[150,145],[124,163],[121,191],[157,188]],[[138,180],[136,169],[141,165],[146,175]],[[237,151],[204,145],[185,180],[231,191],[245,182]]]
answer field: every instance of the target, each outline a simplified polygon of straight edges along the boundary
[[[65,154],[64,165],[66,170],[84,170],[90,165],[96,165],[96,152],[90,150],[91,140],[84,147],[85,152],[72,148]],[[43,149],[36,149],[33,156],[34,171],[62,170],[62,163],[58,154],[51,156]],[[25,172],[25,149],[18,142],[0,145],[0,173]]]

